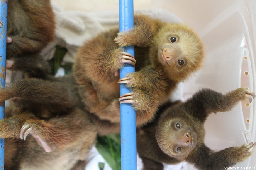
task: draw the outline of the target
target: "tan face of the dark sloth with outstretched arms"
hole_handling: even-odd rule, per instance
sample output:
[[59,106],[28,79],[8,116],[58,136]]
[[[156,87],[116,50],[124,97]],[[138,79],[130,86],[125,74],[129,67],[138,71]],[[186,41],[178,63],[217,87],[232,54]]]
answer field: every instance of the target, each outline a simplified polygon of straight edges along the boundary
[[[161,150],[170,157],[184,160],[197,146],[201,135],[185,114],[169,114],[158,123],[156,140]],[[181,116],[182,115],[182,116]],[[199,132],[200,133],[200,132]]]

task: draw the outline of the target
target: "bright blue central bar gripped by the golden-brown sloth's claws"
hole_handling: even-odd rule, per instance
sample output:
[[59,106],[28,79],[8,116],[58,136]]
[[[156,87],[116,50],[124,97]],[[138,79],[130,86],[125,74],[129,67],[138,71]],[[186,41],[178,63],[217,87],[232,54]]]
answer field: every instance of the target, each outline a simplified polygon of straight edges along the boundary
[[[133,0],[119,0],[119,31],[127,31],[133,27]],[[134,46],[124,47],[127,53],[134,56]],[[134,72],[130,64],[120,69],[120,78]],[[124,84],[120,84],[120,95],[131,92]],[[122,103],[121,110],[121,168],[136,170],[136,113],[129,103]]]

